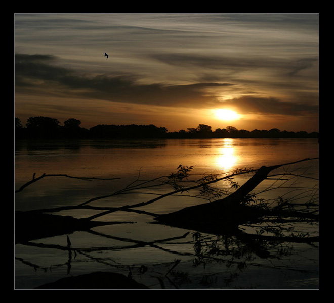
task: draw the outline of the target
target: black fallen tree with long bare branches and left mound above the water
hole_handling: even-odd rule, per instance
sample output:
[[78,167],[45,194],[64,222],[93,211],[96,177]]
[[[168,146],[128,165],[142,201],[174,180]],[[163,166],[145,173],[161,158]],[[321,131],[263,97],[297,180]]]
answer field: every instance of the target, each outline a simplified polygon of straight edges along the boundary
[[[317,159],[317,158],[315,158]],[[90,230],[92,227],[106,225],[106,224],[116,224],[116,223],[132,223],[132,222],[98,222],[92,221],[100,216],[115,212],[115,211],[127,211],[127,212],[137,212],[143,213],[149,216],[152,216],[156,221],[156,224],[165,224],[175,227],[181,227],[186,229],[192,229],[195,231],[203,231],[209,232],[214,234],[227,234],[232,233],[236,234],[239,232],[238,226],[240,224],[244,224],[247,222],[261,222],[261,218],[264,216],[276,216],[279,218],[288,218],[288,217],[295,217],[297,220],[311,220],[316,222],[318,220],[318,215],[313,212],[303,212],[303,211],[295,211],[289,209],[288,211],[284,209],[282,206],[274,207],[271,209],[259,208],[257,206],[249,206],[247,205],[247,199],[251,192],[264,180],[269,178],[269,173],[274,169],[279,167],[295,164],[302,161],[308,161],[313,159],[303,159],[296,162],[285,163],[280,165],[274,166],[262,166],[260,169],[252,169],[252,170],[244,170],[244,171],[237,171],[230,175],[221,177],[221,178],[214,178],[207,180],[203,178],[200,182],[198,180],[195,182],[196,185],[188,186],[188,187],[174,187],[173,191],[164,194],[156,194],[157,197],[148,200],[146,202],[134,204],[134,205],[126,205],[119,208],[113,207],[93,207],[88,205],[91,201],[96,201],[98,199],[112,197],[117,194],[128,194],[128,193],[135,193],[137,189],[143,188],[155,188],[153,185],[149,185],[150,182],[160,182],[156,185],[156,188],[160,188],[160,186],[168,185],[183,182],[184,179],[187,179],[187,171],[180,171],[178,174],[171,174],[171,176],[159,177],[150,181],[142,181],[139,183],[139,186],[133,185],[133,183],[129,184],[126,188],[118,190],[115,193],[110,195],[101,196],[92,198],[85,203],[81,203],[78,206],[74,207],[59,207],[54,209],[42,209],[42,210],[33,210],[33,211],[26,211],[26,212],[15,212],[15,235],[16,235],[16,242],[27,242],[33,239],[44,238],[44,237],[51,237],[54,235],[61,235],[61,234],[69,234],[74,231],[81,231],[81,230]],[[181,166],[179,166],[180,168]],[[182,167],[181,169],[182,170]],[[235,192],[227,195],[225,198],[216,199],[214,201],[210,201],[208,203],[187,207],[181,209],[179,211],[170,213],[170,214],[152,214],[145,211],[139,211],[138,209],[142,206],[146,206],[148,204],[154,203],[155,201],[162,199],[166,196],[171,195],[178,195],[184,192],[188,192],[190,190],[203,188],[205,186],[211,185],[215,182],[221,180],[228,180],[231,179],[233,176],[251,173],[254,172],[255,174],[251,177],[247,182],[245,182],[241,187],[239,187]],[[286,175],[286,174],[282,174]],[[43,174],[38,178],[33,176],[33,179],[23,185],[19,190],[16,192],[22,191],[26,186],[35,183],[37,180],[41,178],[48,177],[48,176],[62,176],[62,177],[69,177],[73,178],[68,175],[47,175]],[[76,177],[78,178],[78,177]],[[79,178],[85,180],[91,180],[95,178]],[[110,180],[110,179],[109,179]],[[205,181],[204,181],[205,180]],[[137,180],[139,181],[139,179]],[[153,194],[153,193],[149,193]],[[198,197],[198,196],[197,196]],[[68,209],[91,209],[91,210],[100,210],[101,213],[97,215],[93,215],[88,218],[82,219],[75,219],[70,216],[57,216],[57,215],[50,215],[46,213],[52,212],[59,212],[61,210],[68,210]],[[278,219],[280,220],[280,219]]]

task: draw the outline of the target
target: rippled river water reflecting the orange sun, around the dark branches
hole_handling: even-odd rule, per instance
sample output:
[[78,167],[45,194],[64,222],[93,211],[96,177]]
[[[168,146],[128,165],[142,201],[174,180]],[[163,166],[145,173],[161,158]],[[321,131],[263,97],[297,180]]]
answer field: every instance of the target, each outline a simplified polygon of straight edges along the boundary
[[[166,139],[166,140],[79,140],[52,142],[17,142],[15,146],[15,189],[46,174],[75,177],[117,178],[114,180],[81,180],[46,177],[15,194],[16,210],[33,210],[77,206],[91,198],[110,195],[130,186],[176,172],[179,165],[192,166],[192,177],[205,173],[224,174],[238,168],[290,163],[318,157],[317,139]],[[318,161],[307,161],[289,167],[318,177]],[[241,185],[249,178],[235,181]],[[267,181],[266,181],[267,182]],[[313,186],[303,181],[301,186]],[[227,183],[217,184],[227,189]],[[258,191],[261,191],[260,185]],[[156,193],[171,189],[135,190],[94,201],[95,206],[119,207],[150,200]],[[282,189],[280,189],[282,190]],[[281,195],[279,192],[278,195]],[[269,191],[265,198],[277,193]],[[143,208],[146,212],[164,214],[186,206],[203,203],[195,197],[169,196]],[[63,215],[88,217],[87,210],[63,211]],[[96,227],[92,232],[74,232],[69,236],[75,258],[66,250],[48,248],[48,244],[66,246],[66,235],[34,240],[46,247],[15,245],[15,288],[33,289],[67,276],[96,271],[128,275],[151,289],[317,289],[317,245],[293,244],[290,254],[281,258],[247,260],[233,257],[203,259],[194,252],[195,231],[150,224],[151,216],[115,212],[100,221],[134,223]],[[317,227],[315,227],[317,230]],[[160,241],[189,235],[171,241]],[[312,231],[314,232],[314,230]],[[215,235],[204,235],[212,238]],[[134,243],[147,244],[133,247]],[[156,242],[158,241],[158,242]],[[159,242],[160,241],[160,242]],[[154,242],[154,244],[152,244]],[[313,243],[314,244],[314,243]],[[317,243],[315,243],[317,244]],[[104,248],[102,248],[104,247]],[[107,248],[105,248],[107,247]],[[94,249],[92,249],[94,248]],[[100,249],[99,249],[100,248]],[[277,250],[277,248],[275,248]],[[218,260],[219,259],[219,260]],[[178,263],[175,263],[176,260]],[[233,264],[233,265],[232,265]],[[237,265],[236,265],[237,264]],[[241,266],[242,265],[242,266]],[[145,266],[145,272],[142,269]],[[170,269],[173,268],[172,271]]]

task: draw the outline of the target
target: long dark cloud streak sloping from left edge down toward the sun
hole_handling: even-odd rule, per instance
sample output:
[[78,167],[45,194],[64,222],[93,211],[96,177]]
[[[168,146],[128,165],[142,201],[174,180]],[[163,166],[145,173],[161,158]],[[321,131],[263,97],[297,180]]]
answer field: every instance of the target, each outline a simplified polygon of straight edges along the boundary
[[232,86],[232,83],[192,83],[170,85],[139,84],[133,75],[87,76],[55,66],[57,60],[49,55],[15,56],[16,91],[48,93],[64,97],[91,97],[114,102],[140,103],[161,106],[202,106],[212,103],[216,96],[210,88]]

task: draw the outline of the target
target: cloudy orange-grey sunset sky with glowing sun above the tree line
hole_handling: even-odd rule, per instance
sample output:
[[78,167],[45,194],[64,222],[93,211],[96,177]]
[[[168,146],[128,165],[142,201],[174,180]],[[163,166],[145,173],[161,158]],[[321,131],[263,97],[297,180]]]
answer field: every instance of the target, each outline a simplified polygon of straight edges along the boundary
[[14,43],[23,126],[319,128],[317,13],[25,13]]

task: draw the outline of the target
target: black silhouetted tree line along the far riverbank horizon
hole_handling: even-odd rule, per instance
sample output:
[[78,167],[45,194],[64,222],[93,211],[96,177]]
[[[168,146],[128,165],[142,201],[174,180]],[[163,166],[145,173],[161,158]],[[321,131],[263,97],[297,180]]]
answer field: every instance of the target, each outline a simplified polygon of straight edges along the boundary
[[234,126],[212,130],[210,125],[199,124],[196,128],[187,128],[169,132],[165,127],[155,125],[105,125],[99,124],[90,129],[80,127],[81,121],[70,118],[60,122],[50,117],[30,117],[25,127],[15,117],[15,139],[61,139],[61,138],[103,138],[103,139],[145,139],[145,138],[319,138],[318,132],[270,130],[238,130]]

